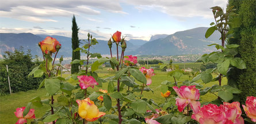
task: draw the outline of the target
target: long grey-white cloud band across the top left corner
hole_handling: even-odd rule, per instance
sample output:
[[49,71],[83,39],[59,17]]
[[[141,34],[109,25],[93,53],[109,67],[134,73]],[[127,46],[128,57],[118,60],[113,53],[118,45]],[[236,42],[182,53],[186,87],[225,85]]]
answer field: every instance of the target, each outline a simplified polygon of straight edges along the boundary
[[119,0],[28,1],[8,0],[0,4],[0,17],[29,22],[57,22],[52,17],[71,17],[73,14],[99,15],[100,10],[123,13]]

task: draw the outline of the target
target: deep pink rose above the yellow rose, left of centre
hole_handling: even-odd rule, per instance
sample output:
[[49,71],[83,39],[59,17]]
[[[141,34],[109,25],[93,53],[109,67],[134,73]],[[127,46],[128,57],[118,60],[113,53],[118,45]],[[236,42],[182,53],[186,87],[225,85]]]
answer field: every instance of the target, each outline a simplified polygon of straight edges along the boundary
[[79,79],[79,86],[81,87],[81,89],[86,89],[87,87],[93,88],[95,85],[98,85],[93,76],[81,75],[77,76],[77,78]]

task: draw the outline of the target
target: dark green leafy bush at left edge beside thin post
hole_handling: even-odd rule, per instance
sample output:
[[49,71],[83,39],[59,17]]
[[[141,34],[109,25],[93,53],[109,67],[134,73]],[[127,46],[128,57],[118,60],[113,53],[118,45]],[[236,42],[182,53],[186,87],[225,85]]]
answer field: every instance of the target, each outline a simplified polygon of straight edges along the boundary
[[38,88],[39,82],[41,82],[43,78],[28,77],[28,74],[35,66],[39,65],[41,62],[33,61],[30,51],[25,53],[23,48],[16,49],[14,52],[6,51],[5,54],[6,55],[3,55],[4,61],[0,62],[1,94],[10,92],[6,65],[8,65],[12,92],[28,91]]

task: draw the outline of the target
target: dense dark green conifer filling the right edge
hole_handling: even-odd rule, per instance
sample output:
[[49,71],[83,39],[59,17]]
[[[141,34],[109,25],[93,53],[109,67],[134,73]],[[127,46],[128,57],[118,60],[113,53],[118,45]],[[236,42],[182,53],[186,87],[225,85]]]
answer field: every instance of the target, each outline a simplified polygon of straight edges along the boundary
[[[228,1],[230,6],[235,6],[239,14],[240,28],[234,28],[234,37],[229,38],[228,44],[239,44],[238,53],[241,59],[246,63],[247,69],[230,70],[228,84],[236,86],[242,93],[239,94],[240,102],[244,104],[246,96],[255,96],[256,94],[256,1]],[[232,29],[232,27],[231,27]]]

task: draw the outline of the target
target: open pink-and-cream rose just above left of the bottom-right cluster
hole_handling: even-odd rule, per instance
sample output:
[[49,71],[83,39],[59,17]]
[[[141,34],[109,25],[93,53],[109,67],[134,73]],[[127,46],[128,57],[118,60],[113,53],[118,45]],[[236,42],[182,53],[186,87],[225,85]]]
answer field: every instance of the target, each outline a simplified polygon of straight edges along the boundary
[[176,105],[180,112],[184,110],[188,104],[194,113],[198,112],[198,108],[200,108],[201,104],[196,101],[200,97],[199,90],[197,90],[196,86],[181,86],[180,88],[173,87],[173,89],[179,96],[179,98],[176,98]]

